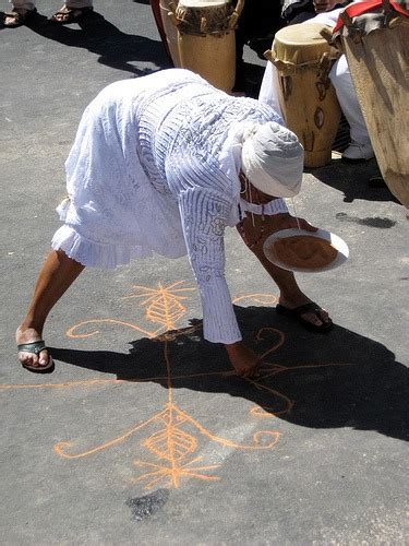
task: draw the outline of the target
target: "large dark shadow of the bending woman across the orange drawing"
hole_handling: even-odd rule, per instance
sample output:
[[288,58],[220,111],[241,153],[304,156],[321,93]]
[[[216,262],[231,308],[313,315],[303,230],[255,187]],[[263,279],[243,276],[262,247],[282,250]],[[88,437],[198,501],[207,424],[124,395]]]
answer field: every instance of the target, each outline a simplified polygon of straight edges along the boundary
[[[279,317],[274,308],[236,307],[244,342],[266,354],[261,377],[236,376],[224,348],[203,341],[201,321],[153,340],[131,342],[130,354],[51,348],[56,359],[130,382],[156,382],[255,404],[253,415],[309,428],[376,430],[409,438],[408,369],[384,345],[335,327],[318,335]],[[168,368],[168,371],[167,371]],[[185,396],[185,392],[184,392]],[[277,424],[276,424],[277,426]]]

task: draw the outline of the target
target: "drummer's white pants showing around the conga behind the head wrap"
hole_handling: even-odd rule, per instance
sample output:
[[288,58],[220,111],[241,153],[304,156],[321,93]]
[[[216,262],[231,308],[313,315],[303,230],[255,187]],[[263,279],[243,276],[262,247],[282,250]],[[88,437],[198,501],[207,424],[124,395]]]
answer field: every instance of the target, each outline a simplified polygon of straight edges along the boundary
[[[341,11],[342,9],[338,9],[327,13],[320,13],[316,17],[310,19],[302,24],[323,23],[328,26],[335,26]],[[345,55],[334,63],[329,72],[329,78],[335,87],[344,116],[350,126],[351,140],[360,144],[369,144],[371,140],[368,134],[366,124],[362,116]],[[268,62],[264,72],[258,99],[269,104],[282,115],[278,100],[278,71],[272,62]]]

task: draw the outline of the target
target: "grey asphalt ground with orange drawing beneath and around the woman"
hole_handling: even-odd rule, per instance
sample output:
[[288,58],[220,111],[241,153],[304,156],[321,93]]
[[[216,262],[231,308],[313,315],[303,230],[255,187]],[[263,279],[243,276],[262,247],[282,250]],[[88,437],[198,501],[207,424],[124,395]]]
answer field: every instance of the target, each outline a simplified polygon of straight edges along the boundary
[[[110,82],[168,66],[145,1],[95,0],[81,27],[47,24],[57,1],[37,8],[0,32],[1,544],[408,544],[408,221],[369,186],[375,162],[335,156],[296,200],[350,248],[342,268],[299,276],[328,335],[275,313],[276,286],[229,233],[237,313],[266,354],[256,383],[203,341],[187,260],[159,257],[86,271],[47,324],[56,371],[20,367],[14,331],[81,114]],[[245,58],[253,85],[263,61]]]

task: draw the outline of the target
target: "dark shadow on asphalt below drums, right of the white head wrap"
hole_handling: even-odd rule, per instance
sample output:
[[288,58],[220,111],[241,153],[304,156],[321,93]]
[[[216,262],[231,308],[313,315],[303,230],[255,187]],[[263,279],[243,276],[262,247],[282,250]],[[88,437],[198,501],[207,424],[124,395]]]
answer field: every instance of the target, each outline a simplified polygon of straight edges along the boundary
[[381,176],[376,159],[359,164],[341,163],[340,159],[336,159],[325,167],[305,169],[305,173],[342,192],[346,203],[352,203],[356,199],[399,203],[385,183],[378,187],[372,183],[372,178]]

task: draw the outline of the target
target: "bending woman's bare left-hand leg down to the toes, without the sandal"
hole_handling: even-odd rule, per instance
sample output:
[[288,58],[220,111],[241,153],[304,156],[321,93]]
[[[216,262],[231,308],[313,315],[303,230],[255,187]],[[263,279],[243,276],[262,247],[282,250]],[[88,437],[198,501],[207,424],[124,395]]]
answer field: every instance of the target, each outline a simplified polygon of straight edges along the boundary
[[[50,251],[39,272],[27,313],[15,333],[17,345],[41,340],[48,313],[83,269],[84,265],[69,258],[62,250]],[[44,367],[48,364],[48,352],[44,349],[37,356],[22,351],[19,359],[25,366]]]

